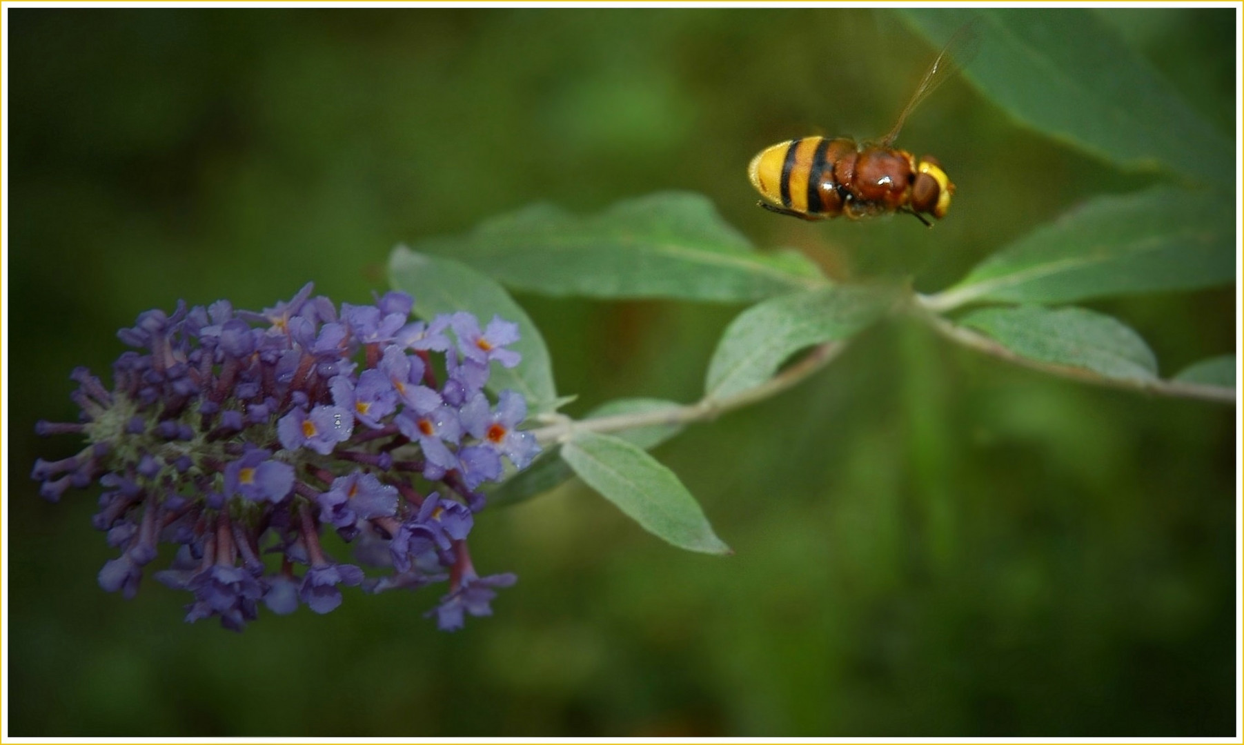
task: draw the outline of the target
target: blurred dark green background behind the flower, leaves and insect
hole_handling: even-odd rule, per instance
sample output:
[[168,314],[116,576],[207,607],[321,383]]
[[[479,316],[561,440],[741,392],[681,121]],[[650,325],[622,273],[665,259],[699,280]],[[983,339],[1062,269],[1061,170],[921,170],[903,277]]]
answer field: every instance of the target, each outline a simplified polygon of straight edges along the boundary
[[[1047,12],[1061,12],[1050,10]],[[899,144],[958,184],[909,218],[755,208],[751,155],[889,128],[935,49],[881,10],[9,11],[11,735],[1230,735],[1229,407],[1071,382],[891,322],[796,389],[657,450],[736,551],[671,548],[581,486],[485,512],[496,616],[347,591],[244,634],[148,580],[104,593],[96,493],[44,502],[75,415],[149,307],[384,286],[389,249],[535,200],[708,194],[758,245],[937,290],[1121,174],[964,80]],[[1223,132],[1234,10],[1103,17]],[[1233,163],[1223,163],[1224,169]],[[571,413],[693,400],[740,308],[520,295]],[[1232,289],[1090,303],[1164,374],[1234,348]],[[163,558],[160,560],[164,561]]]

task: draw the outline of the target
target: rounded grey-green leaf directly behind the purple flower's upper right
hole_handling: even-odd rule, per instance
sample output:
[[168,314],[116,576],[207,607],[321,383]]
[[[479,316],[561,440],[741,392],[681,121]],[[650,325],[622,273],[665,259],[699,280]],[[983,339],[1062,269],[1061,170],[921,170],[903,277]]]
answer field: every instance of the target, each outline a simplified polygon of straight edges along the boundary
[[518,323],[520,338],[510,348],[522,354],[522,361],[514,368],[493,364],[488,387],[518,391],[527,399],[532,414],[554,408],[557,391],[544,337],[500,285],[469,266],[418,254],[406,246],[398,246],[389,256],[389,282],[414,296],[415,313],[423,318],[469,311],[480,325],[488,323],[494,315]]

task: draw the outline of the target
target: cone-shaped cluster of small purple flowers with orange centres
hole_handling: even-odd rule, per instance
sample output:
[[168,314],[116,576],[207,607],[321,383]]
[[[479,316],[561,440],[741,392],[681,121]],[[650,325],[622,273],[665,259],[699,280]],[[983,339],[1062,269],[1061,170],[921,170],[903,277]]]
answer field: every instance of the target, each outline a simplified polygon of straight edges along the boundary
[[[40,422],[40,434],[80,434],[87,445],[32,478],[57,501],[70,488],[103,488],[95,526],[121,551],[100,586],[133,597],[159,542],[177,545],[156,578],[194,593],[187,621],[210,616],[240,631],[262,602],[341,604],[341,586],[364,591],[449,582],[442,629],[464,613],[488,616],[493,588],[466,536],[484,506],[479,488],[539,453],[519,429],[526,402],[484,391],[518,326],[470,313],[411,318],[413,298],[333,306],[309,284],[261,313],[228,301],[167,315],[142,313],[118,336],[138,351],[113,364],[113,388],[73,371],[80,423]],[[367,577],[321,546],[332,529],[360,561],[388,567]],[[299,573],[299,565],[306,567]]]

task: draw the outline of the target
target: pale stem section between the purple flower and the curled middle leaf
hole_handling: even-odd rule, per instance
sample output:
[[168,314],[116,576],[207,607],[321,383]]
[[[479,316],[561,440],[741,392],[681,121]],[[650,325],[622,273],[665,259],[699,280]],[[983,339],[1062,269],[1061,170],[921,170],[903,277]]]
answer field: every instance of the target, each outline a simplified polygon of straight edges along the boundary
[[536,440],[540,444],[547,445],[549,443],[566,442],[578,432],[607,433],[636,429],[638,427],[708,422],[726,412],[748,407],[769,397],[776,396],[800,383],[816,371],[829,364],[835,357],[837,357],[838,352],[841,352],[845,346],[845,341],[835,341],[812,347],[812,351],[805,354],[804,358],[795,364],[791,364],[764,383],[755,386],[754,388],[748,388],[746,391],[740,391],[733,396],[723,398],[707,396],[693,404],[672,405],[669,408],[657,409],[653,412],[616,414],[613,417],[580,420],[570,419],[567,417],[554,424],[531,429],[529,432],[536,435]]

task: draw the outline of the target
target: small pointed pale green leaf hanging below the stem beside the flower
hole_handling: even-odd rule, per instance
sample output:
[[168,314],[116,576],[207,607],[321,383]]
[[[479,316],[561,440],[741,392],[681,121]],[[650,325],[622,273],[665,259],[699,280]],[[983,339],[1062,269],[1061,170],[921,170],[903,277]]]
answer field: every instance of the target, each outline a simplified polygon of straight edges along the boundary
[[561,456],[588,486],[657,537],[688,551],[731,552],[678,476],[642,448],[583,432],[562,445]]

